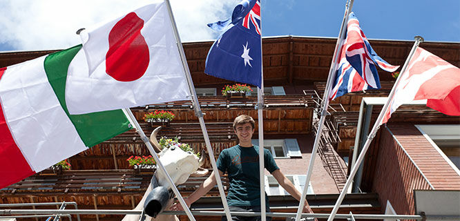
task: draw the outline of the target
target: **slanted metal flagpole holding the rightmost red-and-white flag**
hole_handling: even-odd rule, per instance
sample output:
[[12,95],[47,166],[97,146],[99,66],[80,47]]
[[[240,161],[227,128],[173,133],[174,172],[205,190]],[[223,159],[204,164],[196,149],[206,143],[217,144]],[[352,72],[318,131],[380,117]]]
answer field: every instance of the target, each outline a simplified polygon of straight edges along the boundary
[[390,106],[390,101],[392,100],[393,95],[396,92],[396,86],[398,85],[398,83],[399,83],[399,81],[401,79],[401,75],[403,75],[404,72],[405,72],[405,69],[408,68],[409,61],[412,58],[412,56],[414,55],[414,52],[415,52],[416,48],[419,46],[419,44],[421,42],[423,42],[423,37],[416,36],[416,37],[414,37],[414,39],[415,39],[414,46],[412,46],[412,49],[410,50],[409,56],[405,60],[404,66],[401,69],[401,74],[396,79],[396,82],[394,82],[392,91],[390,92],[390,95],[388,95],[387,102],[385,103],[385,105],[383,106],[380,114],[378,115],[378,117],[376,119],[376,122],[374,123],[374,127],[372,128],[372,131],[367,136],[367,140],[366,140],[366,142],[365,142],[365,144],[363,146],[363,150],[359,154],[358,160],[356,160],[356,163],[353,165],[353,169],[350,172],[349,177],[347,178],[347,182],[345,183],[345,186],[343,187],[343,189],[341,191],[341,195],[338,196],[337,202],[334,205],[334,208],[332,209],[332,212],[329,215],[329,218],[327,219],[327,221],[334,220],[334,217],[336,216],[336,213],[338,211],[338,206],[340,206],[340,204],[342,203],[343,198],[345,198],[345,193],[346,193],[347,189],[349,188],[349,185],[352,183],[352,180],[354,179],[354,175],[356,175],[356,171],[358,171],[358,167],[360,166],[361,162],[363,162],[363,160],[364,160],[364,156],[365,156],[365,154],[367,152],[367,148],[369,148],[370,143],[372,142],[372,139],[374,139],[374,137],[375,137],[375,135],[376,135],[376,133],[378,131],[378,128],[380,128],[381,121],[383,119],[383,115],[385,115],[385,113],[387,111],[387,108]]

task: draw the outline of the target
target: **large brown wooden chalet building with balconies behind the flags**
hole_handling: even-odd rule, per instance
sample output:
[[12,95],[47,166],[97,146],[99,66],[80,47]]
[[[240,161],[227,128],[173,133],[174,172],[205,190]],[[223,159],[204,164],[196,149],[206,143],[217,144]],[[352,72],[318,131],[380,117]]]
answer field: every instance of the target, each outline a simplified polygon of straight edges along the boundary
[[[266,37],[262,41],[265,108],[265,145],[274,153],[281,171],[303,190],[318,124],[320,99],[336,44],[334,38]],[[374,50],[390,64],[403,65],[412,41],[371,40]],[[223,97],[222,86],[233,84],[204,74],[212,42],[184,43],[186,59],[206,122],[215,157],[236,144],[233,119],[240,114],[258,120],[256,94]],[[424,42],[422,48],[460,66],[460,44]],[[0,67],[17,64],[54,51],[1,52]],[[329,106],[307,200],[315,213],[329,213],[343,189],[354,155],[363,145],[381,110],[381,99],[394,79],[379,70],[382,90],[367,90],[338,97]],[[365,98],[363,98],[365,97]],[[376,99],[376,100],[373,100]],[[378,100],[378,101],[377,101]],[[380,103],[379,103],[380,102]],[[145,113],[172,111],[175,119],[160,135],[178,137],[195,151],[205,149],[202,131],[191,102],[170,102],[131,108],[146,134],[155,126],[144,122]],[[460,191],[460,119],[425,105],[403,105],[387,125],[381,126],[358,171],[352,193],[338,213],[414,214],[414,189]],[[441,132],[441,133],[439,133]],[[256,124],[257,138],[259,133]],[[430,138],[431,137],[431,138]],[[133,169],[126,159],[150,155],[135,131],[128,131],[70,157],[68,171],[44,171],[0,190],[1,204],[76,202],[78,209],[133,209],[148,186],[153,171]],[[209,160],[204,167],[211,168]],[[297,202],[266,173],[271,211],[297,211]],[[178,186],[184,197],[206,177],[190,178]],[[227,179],[223,179],[228,186]],[[191,206],[194,210],[222,210],[217,188]],[[59,206],[22,206],[21,209],[59,209]],[[17,209],[0,208],[0,209]],[[73,209],[67,206],[67,209]],[[73,215],[73,219],[76,216]],[[121,215],[80,215],[81,220],[120,220]],[[181,216],[181,220],[187,220]],[[220,220],[220,217],[195,217]],[[18,218],[17,220],[45,220]],[[66,220],[67,218],[63,218]],[[274,220],[286,220],[276,218]]]

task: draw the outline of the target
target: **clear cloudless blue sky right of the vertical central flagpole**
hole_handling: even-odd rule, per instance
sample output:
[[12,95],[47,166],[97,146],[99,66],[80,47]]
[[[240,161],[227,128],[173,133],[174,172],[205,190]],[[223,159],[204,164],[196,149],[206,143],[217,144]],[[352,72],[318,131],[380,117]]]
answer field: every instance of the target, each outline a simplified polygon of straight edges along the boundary
[[[263,35],[337,37],[345,1],[268,0],[262,7]],[[353,12],[368,39],[460,41],[459,0],[356,0]]]

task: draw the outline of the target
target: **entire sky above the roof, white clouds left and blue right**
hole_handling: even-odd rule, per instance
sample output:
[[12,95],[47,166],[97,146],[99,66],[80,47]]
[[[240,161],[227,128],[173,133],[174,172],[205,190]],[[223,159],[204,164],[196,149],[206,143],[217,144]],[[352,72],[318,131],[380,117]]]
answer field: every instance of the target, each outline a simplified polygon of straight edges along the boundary
[[[75,30],[115,19],[153,0],[2,0],[0,51],[51,50],[80,44]],[[213,40],[207,28],[230,17],[239,0],[170,0],[182,41]],[[345,0],[262,0],[262,35],[337,37]],[[459,0],[356,0],[368,39],[460,42]]]

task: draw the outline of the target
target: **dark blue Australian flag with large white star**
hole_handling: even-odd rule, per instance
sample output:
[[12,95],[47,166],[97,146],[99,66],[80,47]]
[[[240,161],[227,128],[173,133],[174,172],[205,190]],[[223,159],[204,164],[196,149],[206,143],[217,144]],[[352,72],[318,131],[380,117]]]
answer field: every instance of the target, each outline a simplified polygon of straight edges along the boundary
[[260,0],[242,1],[233,10],[231,19],[210,23],[208,26],[224,32],[208,52],[204,73],[260,88]]

